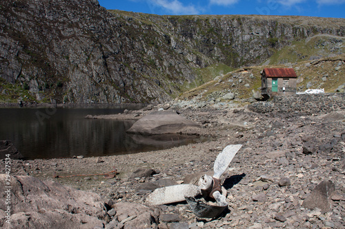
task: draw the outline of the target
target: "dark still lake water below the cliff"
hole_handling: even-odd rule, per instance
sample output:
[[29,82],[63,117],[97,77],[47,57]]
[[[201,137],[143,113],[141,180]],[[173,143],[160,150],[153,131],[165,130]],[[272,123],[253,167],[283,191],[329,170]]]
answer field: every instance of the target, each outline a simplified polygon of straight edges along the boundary
[[26,159],[138,153],[200,142],[184,135],[154,137],[126,133],[134,121],[97,120],[141,106],[0,108],[0,140],[11,140]]

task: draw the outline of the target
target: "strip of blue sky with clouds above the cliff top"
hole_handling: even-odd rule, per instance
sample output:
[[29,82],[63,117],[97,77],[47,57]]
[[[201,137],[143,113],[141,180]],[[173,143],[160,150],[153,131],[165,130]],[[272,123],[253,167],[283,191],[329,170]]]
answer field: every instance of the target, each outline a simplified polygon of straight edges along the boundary
[[99,0],[108,10],[148,14],[265,14],[345,18],[345,0]]

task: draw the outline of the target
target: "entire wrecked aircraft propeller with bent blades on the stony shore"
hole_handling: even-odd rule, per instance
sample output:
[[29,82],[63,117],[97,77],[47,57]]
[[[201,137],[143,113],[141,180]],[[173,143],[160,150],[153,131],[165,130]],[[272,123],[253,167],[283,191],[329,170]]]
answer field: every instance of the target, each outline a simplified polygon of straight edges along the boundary
[[[187,201],[190,210],[197,217],[217,217],[228,206],[226,201],[226,189],[221,186],[220,177],[228,168],[233,157],[241,149],[242,144],[226,146],[215,160],[213,177],[203,175],[199,179],[198,186],[194,184],[178,184],[157,188],[146,198],[150,205],[173,204]],[[212,201],[206,201],[206,199]]]

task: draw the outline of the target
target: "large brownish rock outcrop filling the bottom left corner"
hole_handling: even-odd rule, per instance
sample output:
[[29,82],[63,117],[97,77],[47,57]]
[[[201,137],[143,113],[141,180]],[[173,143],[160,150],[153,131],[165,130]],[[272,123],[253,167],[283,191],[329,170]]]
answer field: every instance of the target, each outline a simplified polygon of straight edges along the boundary
[[103,228],[108,219],[99,195],[58,182],[0,174],[0,193],[11,199],[0,202],[0,228]]

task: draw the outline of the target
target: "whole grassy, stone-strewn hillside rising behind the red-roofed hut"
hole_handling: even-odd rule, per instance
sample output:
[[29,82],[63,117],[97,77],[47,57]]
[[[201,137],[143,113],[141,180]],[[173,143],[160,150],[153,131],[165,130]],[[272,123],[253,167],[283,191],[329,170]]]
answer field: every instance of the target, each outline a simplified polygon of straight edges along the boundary
[[[244,67],[224,75],[213,72],[208,83],[185,91],[180,98],[193,98],[202,94],[206,100],[215,91],[232,91],[237,94],[237,98],[250,98],[253,89],[261,89],[260,72],[264,67],[293,67],[298,76],[297,91],[305,91],[309,83],[311,89],[323,88],[326,92],[335,92],[337,87],[345,84],[345,65],[336,69],[340,61],[345,62],[344,43],[345,37],[322,34],[295,41],[282,50],[276,50],[261,66]],[[313,60],[315,58],[318,59]],[[242,83],[239,83],[239,78]],[[250,87],[245,87],[247,83]]]

